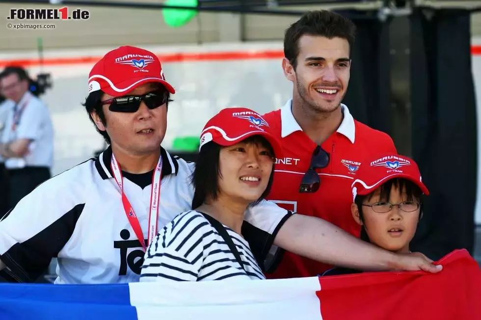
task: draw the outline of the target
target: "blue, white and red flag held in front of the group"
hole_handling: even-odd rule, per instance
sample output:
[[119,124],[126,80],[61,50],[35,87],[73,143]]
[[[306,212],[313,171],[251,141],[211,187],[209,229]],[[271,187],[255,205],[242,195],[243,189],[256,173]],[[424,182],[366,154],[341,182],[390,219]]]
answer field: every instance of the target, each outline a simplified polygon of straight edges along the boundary
[[1,284],[1,320],[480,320],[481,270],[466,250],[437,274],[115,285]]

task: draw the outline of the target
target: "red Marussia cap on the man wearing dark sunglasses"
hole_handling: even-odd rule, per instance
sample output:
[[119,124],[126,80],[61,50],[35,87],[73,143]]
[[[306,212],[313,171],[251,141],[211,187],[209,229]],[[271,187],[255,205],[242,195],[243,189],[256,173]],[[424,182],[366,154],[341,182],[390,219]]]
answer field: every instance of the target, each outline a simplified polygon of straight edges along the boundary
[[122,46],[104,55],[90,71],[88,93],[102,90],[118,97],[145,82],[159,82],[170,93],[174,88],[165,81],[159,58],[150,51]]

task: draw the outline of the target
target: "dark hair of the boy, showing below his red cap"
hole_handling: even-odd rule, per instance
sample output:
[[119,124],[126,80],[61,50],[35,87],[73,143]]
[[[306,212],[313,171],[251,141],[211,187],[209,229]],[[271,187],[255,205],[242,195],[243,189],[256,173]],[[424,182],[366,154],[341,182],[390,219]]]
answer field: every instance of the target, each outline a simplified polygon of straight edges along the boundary
[[[383,183],[380,187],[380,200],[381,201],[389,201],[389,195],[391,194],[391,189],[393,187],[397,187],[399,190],[406,188],[406,193],[407,193],[407,200],[412,201],[416,200],[420,203],[420,213],[423,212],[423,202],[422,202],[422,197],[423,197],[423,191],[421,190],[418,185],[416,185],[414,182],[403,179],[403,178],[395,178],[386,181]],[[374,196],[374,191],[367,194],[367,195],[357,195],[356,198],[354,199],[354,203],[357,206],[357,210],[359,211],[359,219],[364,223],[364,214],[362,212],[362,204],[364,200],[371,200],[371,198]],[[421,218],[421,214],[420,217]],[[365,240],[370,242],[369,236],[367,235],[366,229],[364,226],[361,227],[361,240]]]

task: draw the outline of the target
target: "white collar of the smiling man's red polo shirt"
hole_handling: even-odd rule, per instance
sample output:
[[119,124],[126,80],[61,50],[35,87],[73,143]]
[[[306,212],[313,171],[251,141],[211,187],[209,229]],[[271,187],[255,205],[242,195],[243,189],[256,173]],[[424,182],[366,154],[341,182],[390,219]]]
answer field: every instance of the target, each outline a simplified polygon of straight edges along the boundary
[[[349,109],[346,105],[341,104],[341,110],[344,114],[344,119],[337,129],[337,132],[345,135],[351,141],[351,143],[354,143],[356,136],[354,118],[349,113]],[[284,105],[284,107],[281,108],[281,124],[281,135],[283,138],[296,131],[302,131],[297,121],[295,121],[294,115],[292,114],[292,99],[290,99]]]

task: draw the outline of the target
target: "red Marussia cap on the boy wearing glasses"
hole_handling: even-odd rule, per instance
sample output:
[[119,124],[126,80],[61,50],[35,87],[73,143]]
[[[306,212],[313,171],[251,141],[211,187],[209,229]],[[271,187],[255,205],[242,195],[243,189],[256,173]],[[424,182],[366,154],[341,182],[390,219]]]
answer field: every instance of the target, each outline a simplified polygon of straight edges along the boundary
[[388,180],[404,178],[412,181],[428,195],[428,188],[423,184],[418,165],[414,160],[401,155],[383,155],[370,157],[361,162],[352,183],[352,195],[367,195]]

